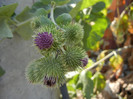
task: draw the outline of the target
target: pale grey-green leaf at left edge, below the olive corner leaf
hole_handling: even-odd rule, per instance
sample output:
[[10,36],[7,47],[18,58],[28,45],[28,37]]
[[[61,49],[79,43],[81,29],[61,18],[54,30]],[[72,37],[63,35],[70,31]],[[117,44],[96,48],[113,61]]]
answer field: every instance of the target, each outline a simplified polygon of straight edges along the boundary
[[13,37],[12,31],[4,17],[0,17],[0,38]]

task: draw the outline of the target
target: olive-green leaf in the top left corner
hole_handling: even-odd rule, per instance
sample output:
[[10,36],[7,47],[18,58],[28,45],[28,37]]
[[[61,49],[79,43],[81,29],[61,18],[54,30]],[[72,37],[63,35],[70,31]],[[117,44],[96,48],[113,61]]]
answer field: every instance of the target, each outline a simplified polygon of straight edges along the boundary
[[11,17],[17,8],[18,4],[14,3],[11,5],[6,5],[3,7],[0,7],[0,16],[5,16],[5,17]]

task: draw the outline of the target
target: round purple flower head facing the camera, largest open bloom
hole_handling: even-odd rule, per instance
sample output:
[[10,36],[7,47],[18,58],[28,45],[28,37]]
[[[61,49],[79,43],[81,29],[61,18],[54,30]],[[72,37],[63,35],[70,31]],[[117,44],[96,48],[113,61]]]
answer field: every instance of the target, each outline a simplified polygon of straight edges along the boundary
[[36,46],[38,46],[41,50],[48,49],[53,44],[53,37],[52,34],[48,34],[48,32],[38,33],[34,41]]

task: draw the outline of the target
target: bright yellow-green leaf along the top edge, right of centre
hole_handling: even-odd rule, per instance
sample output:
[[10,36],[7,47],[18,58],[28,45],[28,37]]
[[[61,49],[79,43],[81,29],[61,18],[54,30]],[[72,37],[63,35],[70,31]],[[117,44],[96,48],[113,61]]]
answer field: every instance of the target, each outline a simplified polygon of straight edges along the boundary
[[112,0],[81,0],[80,2],[78,2],[76,7],[70,11],[70,14],[74,18],[79,11],[88,8],[100,1],[103,1],[106,4],[106,6],[108,6],[109,4],[111,4]]

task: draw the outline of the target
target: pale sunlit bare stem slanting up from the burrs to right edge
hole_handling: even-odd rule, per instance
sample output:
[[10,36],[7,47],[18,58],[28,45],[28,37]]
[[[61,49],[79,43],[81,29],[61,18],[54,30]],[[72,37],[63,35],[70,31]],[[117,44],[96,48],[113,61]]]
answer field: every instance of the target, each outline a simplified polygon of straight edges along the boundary
[[[128,48],[133,48],[133,46],[124,46],[123,48],[119,48],[117,49],[115,52],[121,52],[122,50],[128,49]],[[106,59],[110,58],[112,55],[114,55],[114,51],[112,51],[111,53],[109,53],[108,55],[106,55],[104,58],[102,58],[101,60],[97,61],[96,63],[94,63],[91,67],[85,69],[86,71],[89,71],[93,68],[96,68],[98,66],[98,64],[100,64],[101,62],[105,61]]]

